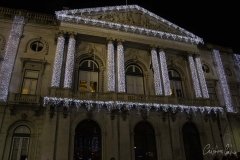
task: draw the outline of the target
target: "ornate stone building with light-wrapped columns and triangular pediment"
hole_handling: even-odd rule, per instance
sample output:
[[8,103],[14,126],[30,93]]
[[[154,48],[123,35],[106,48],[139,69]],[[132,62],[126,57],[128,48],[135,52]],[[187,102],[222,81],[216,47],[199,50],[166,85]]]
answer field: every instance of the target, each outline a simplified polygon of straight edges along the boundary
[[136,5],[0,8],[0,159],[238,152],[239,59]]

